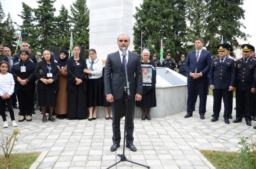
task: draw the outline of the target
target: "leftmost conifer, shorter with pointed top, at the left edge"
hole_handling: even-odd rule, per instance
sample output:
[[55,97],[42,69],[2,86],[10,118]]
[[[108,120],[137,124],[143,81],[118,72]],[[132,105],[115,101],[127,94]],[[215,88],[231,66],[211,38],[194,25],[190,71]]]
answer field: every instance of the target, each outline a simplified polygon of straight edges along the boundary
[[2,32],[3,32],[3,37],[1,38],[2,45],[4,45],[5,47],[10,47],[10,49],[12,50],[12,53],[14,53],[17,36],[16,36],[16,30],[14,28],[14,23],[12,22],[10,13],[8,13],[5,22],[3,22]]

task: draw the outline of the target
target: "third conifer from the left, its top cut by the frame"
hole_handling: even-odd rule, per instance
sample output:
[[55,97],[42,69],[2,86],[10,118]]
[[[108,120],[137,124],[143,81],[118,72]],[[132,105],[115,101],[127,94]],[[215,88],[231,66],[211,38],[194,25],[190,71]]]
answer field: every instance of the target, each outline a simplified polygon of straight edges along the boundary
[[56,0],[39,0],[37,9],[34,9],[35,20],[37,21],[37,32],[39,33],[37,41],[39,42],[39,49],[49,49],[54,45],[54,2]]

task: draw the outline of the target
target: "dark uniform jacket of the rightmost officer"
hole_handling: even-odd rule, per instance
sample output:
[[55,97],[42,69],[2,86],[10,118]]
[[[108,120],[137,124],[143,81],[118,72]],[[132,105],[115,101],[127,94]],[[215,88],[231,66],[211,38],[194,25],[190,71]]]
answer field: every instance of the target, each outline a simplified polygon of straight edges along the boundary
[[236,89],[240,91],[251,91],[256,87],[255,74],[256,60],[251,58],[244,64],[244,59],[235,62],[236,67]]

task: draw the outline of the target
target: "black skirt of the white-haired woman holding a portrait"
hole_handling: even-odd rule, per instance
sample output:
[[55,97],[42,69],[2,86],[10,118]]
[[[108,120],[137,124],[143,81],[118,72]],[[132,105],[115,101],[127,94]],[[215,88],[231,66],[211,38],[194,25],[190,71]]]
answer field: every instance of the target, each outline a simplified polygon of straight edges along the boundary
[[156,87],[152,87],[149,92],[143,94],[141,101],[136,101],[136,106],[142,108],[156,107]]

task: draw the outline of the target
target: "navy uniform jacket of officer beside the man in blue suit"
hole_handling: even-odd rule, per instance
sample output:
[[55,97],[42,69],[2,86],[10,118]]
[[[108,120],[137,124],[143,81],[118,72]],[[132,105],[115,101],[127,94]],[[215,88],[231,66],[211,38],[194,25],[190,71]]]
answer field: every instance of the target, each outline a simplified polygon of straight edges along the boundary
[[213,59],[209,80],[209,84],[213,84],[215,89],[229,89],[230,86],[235,87],[236,68],[234,66],[234,59],[226,57],[223,64],[221,64],[219,58]]

